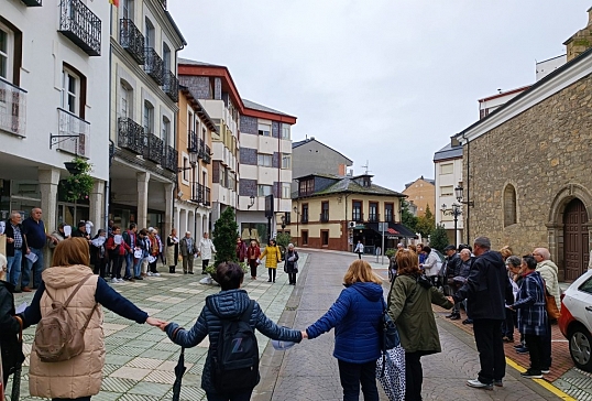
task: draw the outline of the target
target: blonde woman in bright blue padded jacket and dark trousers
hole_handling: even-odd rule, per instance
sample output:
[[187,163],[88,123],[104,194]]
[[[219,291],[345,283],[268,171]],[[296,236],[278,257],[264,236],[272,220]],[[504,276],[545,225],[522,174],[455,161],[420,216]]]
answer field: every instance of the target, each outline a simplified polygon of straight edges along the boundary
[[343,400],[358,400],[360,384],[365,401],[377,401],[376,359],[381,356],[381,322],[386,307],[382,279],[364,260],[350,264],[346,289],[303,337],[316,338],[335,327],[333,357],[338,360]]

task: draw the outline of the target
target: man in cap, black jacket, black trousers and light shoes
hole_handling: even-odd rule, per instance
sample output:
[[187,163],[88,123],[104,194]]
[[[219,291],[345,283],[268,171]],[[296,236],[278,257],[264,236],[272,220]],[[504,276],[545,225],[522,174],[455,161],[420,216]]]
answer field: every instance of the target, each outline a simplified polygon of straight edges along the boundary
[[473,319],[481,371],[476,379],[468,380],[467,384],[491,390],[493,384],[503,386],[506,361],[502,322],[505,319],[505,305],[514,303],[514,294],[502,254],[491,250],[490,239],[476,238],[473,252],[476,259],[471,273],[450,301],[460,302],[467,299],[469,318]]

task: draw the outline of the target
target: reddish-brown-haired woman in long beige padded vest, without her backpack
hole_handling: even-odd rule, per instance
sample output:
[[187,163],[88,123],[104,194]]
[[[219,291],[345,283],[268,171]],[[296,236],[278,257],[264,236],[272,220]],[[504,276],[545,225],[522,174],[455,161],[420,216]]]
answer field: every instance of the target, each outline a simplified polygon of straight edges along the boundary
[[105,280],[99,280],[88,267],[89,262],[87,240],[70,238],[59,242],[55,247],[52,267],[43,271],[43,281],[21,316],[25,328],[37,324],[52,311],[52,303],[64,304],[74,294],[67,313],[77,327],[84,327],[88,321],[84,330],[85,349],[68,360],[44,362],[33,343],[29,369],[29,390],[33,397],[87,401],[99,393],[106,353],[101,305],[136,323],[152,326],[163,323],[149,317]]

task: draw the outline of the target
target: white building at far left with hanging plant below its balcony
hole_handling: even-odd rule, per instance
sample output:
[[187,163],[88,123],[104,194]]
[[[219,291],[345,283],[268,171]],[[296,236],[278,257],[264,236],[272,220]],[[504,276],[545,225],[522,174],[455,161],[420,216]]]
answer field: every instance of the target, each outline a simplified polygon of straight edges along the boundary
[[[105,220],[109,180],[108,1],[0,0],[0,217],[43,209],[47,230]],[[89,199],[65,202],[75,155],[92,164]]]

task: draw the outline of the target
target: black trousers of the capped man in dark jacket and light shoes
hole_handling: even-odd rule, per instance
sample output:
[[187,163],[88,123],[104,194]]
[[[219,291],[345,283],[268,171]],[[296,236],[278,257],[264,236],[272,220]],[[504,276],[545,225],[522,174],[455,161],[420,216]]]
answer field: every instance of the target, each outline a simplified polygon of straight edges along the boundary
[[473,321],[479,361],[481,362],[479,381],[485,384],[491,384],[494,380],[502,380],[506,375],[502,322],[491,318]]

